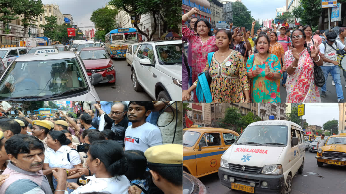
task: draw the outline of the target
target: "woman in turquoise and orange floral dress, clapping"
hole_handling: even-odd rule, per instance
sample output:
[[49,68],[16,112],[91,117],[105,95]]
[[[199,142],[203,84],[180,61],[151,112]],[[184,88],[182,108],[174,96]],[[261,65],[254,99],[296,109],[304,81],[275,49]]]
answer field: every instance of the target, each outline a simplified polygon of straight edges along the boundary
[[247,75],[252,81],[252,101],[255,103],[280,103],[282,70],[279,59],[269,53],[269,38],[260,33],[255,41],[258,53],[247,59]]

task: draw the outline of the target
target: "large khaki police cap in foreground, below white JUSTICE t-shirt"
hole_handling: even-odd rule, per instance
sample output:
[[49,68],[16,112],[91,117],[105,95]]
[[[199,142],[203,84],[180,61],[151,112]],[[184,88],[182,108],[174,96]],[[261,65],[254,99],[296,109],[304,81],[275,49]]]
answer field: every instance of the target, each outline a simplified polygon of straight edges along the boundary
[[164,144],[149,147],[145,153],[149,165],[182,166],[183,146],[179,144]]

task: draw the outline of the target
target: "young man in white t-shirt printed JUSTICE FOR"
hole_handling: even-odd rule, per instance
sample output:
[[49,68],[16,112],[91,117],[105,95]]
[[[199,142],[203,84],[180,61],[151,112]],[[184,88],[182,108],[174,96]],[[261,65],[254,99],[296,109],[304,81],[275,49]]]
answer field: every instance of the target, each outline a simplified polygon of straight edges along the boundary
[[149,147],[162,144],[160,129],[145,121],[152,109],[154,103],[151,101],[130,101],[127,117],[132,125],[125,131],[125,150],[145,152]]

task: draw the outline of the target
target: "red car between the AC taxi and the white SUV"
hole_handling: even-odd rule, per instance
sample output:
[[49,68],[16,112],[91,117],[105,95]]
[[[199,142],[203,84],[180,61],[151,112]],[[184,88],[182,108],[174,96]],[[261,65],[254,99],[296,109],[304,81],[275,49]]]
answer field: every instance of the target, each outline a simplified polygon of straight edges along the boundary
[[79,53],[88,73],[89,79],[91,74],[102,74],[101,83],[115,83],[115,69],[113,61],[103,47],[83,48]]

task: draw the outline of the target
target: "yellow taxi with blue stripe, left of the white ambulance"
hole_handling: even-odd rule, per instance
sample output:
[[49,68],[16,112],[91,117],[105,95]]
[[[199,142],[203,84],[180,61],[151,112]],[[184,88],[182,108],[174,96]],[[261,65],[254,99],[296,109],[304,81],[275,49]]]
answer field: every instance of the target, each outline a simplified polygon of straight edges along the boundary
[[230,129],[195,127],[183,131],[184,171],[195,177],[218,172],[221,155],[239,134]]

